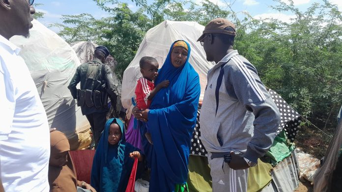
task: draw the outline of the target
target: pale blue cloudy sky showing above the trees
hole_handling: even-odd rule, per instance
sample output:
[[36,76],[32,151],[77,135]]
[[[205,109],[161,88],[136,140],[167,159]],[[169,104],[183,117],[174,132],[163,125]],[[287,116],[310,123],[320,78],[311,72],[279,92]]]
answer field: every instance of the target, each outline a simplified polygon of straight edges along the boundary
[[[131,0],[119,0],[121,2],[127,2],[131,10],[137,10],[135,3]],[[152,1],[152,0],[148,0]],[[198,4],[201,0],[193,0]],[[210,0],[217,3],[221,7],[226,7],[227,3],[234,0]],[[283,0],[287,1],[287,0]],[[334,4],[338,4],[339,9],[342,11],[342,0],[329,0]],[[312,3],[322,2],[321,0],[293,0],[294,5],[301,11],[305,11]],[[44,18],[39,21],[46,26],[53,23],[62,23],[60,19],[62,15],[78,15],[81,13],[89,13],[95,18],[100,19],[107,17],[108,14],[98,8],[93,0],[35,0],[34,3],[41,3],[36,8],[36,11],[44,12]],[[270,5],[275,5],[273,0],[235,0],[232,5],[232,9],[235,12],[247,11],[253,17],[256,18],[277,18],[282,21],[289,21],[293,15],[291,13],[279,13],[276,10],[270,8]],[[114,6],[114,5],[111,5]],[[55,32],[57,28],[51,28]]]

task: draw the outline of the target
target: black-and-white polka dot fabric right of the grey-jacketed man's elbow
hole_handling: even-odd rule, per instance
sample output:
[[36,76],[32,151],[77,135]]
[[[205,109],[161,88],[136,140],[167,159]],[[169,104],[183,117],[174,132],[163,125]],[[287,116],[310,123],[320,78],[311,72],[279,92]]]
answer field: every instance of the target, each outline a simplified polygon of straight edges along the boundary
[[300,128],[302,116],[300,116],[282,96],[278,95],[275,91],[269,90],[274,103],[277,105],[280,112],[280,125],[277,130],[277,135],[284,129],[287,138],[293,142]]

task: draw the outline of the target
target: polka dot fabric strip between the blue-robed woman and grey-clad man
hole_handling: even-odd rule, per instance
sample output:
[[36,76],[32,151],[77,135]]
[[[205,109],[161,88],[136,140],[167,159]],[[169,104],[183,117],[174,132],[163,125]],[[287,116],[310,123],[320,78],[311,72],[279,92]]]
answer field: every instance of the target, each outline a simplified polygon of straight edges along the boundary
[[191,139],[190,155],[199,155],[199,156],[207,157],[208,152],[205,150],[202,142],[200,141],[199,113],[200,113],[200,106],[197,112],[196,126],[194,128],[193,136]]

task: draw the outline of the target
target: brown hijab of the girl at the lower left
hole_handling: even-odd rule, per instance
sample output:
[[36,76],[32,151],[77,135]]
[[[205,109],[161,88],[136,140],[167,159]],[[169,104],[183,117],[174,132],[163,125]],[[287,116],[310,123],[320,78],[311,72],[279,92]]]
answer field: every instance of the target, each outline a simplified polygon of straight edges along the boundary
[[[50,133],[50,159],[55,155],[69,151],[69,141],[60,131],[53,131]],[[75,192],[77,186],[76,171],[71,160],[70,153],[67,154],[67,163],[63,167],[55,167],[49,165],[49,184],[50,192]]]

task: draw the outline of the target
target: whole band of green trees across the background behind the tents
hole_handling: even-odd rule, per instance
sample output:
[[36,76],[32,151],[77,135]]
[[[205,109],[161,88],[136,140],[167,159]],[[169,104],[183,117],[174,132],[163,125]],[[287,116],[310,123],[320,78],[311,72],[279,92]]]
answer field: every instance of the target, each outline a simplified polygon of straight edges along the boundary
[[146,31],[164,20],[205,25],[214,18],[228,18],[237,26],[235,49],[256,66],[262,82],[314,124],[335,127],[342,100],[342,15],[328,0],[312,4],[305,12],[292,1],[275,0],[275,10],[295,15],[290,23],[256,20],[232,11],[230,4],[220,7],[209,0],[200,5],[190,0],[132,0],[136,12],[117,0],[94,1],[108,17],[65,15],[63,24],[56,26],[67,42],[92,40],[110,48],[119,77]]

